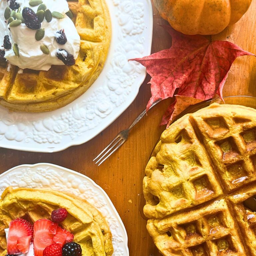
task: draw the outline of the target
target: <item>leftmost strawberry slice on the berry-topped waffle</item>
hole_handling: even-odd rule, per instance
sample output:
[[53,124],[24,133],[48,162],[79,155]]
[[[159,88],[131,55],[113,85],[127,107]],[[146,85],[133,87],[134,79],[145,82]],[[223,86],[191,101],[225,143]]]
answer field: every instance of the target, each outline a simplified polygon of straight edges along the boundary
[[15,219],[10,222],[7,238],[8,254],[19,254],[17,241],[21,237],[33,236],[33,225],[24,219]]

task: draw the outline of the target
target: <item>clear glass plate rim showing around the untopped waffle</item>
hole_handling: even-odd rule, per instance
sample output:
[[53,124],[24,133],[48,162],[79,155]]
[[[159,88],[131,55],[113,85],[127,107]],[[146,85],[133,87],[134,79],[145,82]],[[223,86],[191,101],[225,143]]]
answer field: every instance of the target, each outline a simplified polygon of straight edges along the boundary
[[[194,113],[202,108],[205,108],[213,103],[219,103],[219,104],[230,104],[230,105],[242,105],[245,107],[250,107],[250,108],[254,108],[256,109],[256,97],[252,97],[252,96],[227,96],[227,97],[223,97],[224,102],[220,99],[213,99],[213,100],[206,100],[203,102],[200,102],[198,104],[192,105],[190,107],[188,107],[185,111],[183,111],[181,114],[179,114],[177,116],[177,118],[175,118],[172,123],[174,123],[176,120],[178,120],[179,118],[181,118],[182,116],[188,114],[188,113]],[[160,141],[160,138],[157,140],[150,157],[155,156],[155,147],[157,145],[157,143]]]

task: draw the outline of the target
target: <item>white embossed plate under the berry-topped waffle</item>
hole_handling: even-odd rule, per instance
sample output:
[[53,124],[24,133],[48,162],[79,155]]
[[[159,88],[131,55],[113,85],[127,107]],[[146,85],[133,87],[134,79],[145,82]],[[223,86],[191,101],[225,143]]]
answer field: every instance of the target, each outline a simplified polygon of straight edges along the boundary
[[107,193],[91,178],[54,164],[24,164],[0,175],[0,195],[8,186],[59,190],[86,199],[109,223],[113,235],[113,256],[129,256],[128,237],[124,224]]

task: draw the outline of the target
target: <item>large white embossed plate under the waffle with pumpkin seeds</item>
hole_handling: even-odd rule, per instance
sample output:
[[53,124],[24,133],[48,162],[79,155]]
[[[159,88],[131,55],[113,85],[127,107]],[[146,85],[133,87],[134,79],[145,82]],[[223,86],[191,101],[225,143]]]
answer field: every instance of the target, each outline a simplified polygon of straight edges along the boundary
[[45,113],[9,112],[0,106],[0,147],[56,152],[85,143],[109,126],[133,102],[145,68],[128,59],[151,52],[150,0],[106,0],[112,41],[99,78],[74,102]]

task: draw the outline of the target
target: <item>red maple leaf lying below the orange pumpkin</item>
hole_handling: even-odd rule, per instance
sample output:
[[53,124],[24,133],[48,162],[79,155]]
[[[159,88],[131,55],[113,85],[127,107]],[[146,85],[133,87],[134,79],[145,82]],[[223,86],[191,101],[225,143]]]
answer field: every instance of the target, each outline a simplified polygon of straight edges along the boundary
[[[222,89],[234,60],[254,55],[228,41],[209,41],[204,36],[188,36],[163,26],[172,36],[172,47],[144,58],[132,59],[146,67],[152,77],[147,110],[158,99],[176,100],[165,113],[162,124],[170,124],[189,105],[211,99]],[[255,56],[255,55],[254,55]]]

